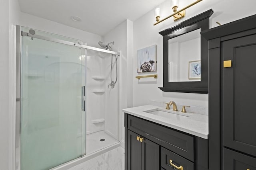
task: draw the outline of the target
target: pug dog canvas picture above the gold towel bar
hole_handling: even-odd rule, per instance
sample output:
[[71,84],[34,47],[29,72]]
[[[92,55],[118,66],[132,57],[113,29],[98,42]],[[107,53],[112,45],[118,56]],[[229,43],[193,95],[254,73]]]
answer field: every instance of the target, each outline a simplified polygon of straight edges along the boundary
[[137,50],[137,73],[157,71],[157,45]]

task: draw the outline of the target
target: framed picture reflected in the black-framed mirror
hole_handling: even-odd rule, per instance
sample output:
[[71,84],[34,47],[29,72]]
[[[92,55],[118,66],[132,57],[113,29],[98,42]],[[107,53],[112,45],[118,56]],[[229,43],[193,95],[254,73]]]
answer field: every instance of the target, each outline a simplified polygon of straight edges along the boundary
[[201,61],[188,62],[188,79],[201,79]]

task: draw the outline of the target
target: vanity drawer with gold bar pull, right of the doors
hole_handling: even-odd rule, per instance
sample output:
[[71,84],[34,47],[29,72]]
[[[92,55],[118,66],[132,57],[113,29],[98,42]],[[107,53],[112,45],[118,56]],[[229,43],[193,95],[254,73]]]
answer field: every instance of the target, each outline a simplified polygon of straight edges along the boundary
[[193,162],[163,147],[161,148],[161,166],[166,170],[194,170]]

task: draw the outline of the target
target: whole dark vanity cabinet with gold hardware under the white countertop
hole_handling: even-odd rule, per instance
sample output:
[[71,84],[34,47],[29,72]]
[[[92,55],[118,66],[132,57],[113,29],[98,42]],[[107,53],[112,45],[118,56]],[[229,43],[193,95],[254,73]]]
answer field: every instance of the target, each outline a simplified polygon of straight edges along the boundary
[[125,170],[208,170],[208,140],[125,113]]

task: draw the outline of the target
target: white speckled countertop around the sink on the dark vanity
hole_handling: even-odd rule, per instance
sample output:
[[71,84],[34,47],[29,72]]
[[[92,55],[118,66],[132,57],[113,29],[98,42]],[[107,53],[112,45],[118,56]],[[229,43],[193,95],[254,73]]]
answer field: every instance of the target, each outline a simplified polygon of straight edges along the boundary
[[[159,115],[154,115],[151,113],[146,113],[148,110],[162,110],[170,113],[178,114],[176,117],[166,118]],[[181,111],[172,111],[172,109],[167,110],[165,108],[153,105],[145,105],[138,107],[131,107],[122,110],[125,113],[146,119],[179,131],[189,133],[204,139],[208,139],[208,115],[202,115],[198,113],[182,113]],[[179,116],[184,115],[187,117]]]

